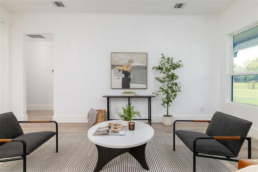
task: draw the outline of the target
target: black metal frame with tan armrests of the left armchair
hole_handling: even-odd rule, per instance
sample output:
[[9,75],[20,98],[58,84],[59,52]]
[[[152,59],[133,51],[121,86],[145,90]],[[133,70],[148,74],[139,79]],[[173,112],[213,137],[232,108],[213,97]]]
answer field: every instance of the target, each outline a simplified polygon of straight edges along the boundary
[[[54,122],[56,124],[56,152],[58,152],[58,124],[56,121],[18,121],[19,123],[50,123]],[[0,139],[0,142],[21,142],[23,144],[23,156],[18,158],[2,159],[1,162],[15,161],[23,159],[23,172],[26,172],[26,142],[22,139]]]

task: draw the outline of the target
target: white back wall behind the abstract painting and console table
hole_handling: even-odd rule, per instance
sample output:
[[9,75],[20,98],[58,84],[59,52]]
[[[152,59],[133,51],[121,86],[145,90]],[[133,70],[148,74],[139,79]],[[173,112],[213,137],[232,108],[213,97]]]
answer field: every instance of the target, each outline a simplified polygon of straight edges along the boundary
[[[132,90],[142,95],[159,87],[153,79],[158,72],[151,70],[159,54],[183,61],[184,68],[176,71],[182,93],[170,107],[175,119],[210,119],[218,110],[218,15],[13,13],[12,17],[12,56],[17,61],[13,75],[19,78],[15,85],[22,84],[22,34],[54,34],[54,120],[58,122],[86,122],[90,108],[107,108],[103,95],[124,91],[110,88],[111,52],[148,53],[148,88]],[[14,96],[23,101],[21,93]],[[161,122],[166,112],[160,99],[152,99],[153,122]],[[147,116],[147,99],[131,102],[143,118]],[[112,99],[111,115],[116,106],[121,110],[126,103],[127,99]]]

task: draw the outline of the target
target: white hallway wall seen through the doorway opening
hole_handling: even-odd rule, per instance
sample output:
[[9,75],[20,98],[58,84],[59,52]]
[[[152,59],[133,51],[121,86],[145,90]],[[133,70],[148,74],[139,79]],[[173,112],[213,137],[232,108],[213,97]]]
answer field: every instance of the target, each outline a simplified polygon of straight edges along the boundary
[[53,110],[53,42],[26,42],[27,110]]

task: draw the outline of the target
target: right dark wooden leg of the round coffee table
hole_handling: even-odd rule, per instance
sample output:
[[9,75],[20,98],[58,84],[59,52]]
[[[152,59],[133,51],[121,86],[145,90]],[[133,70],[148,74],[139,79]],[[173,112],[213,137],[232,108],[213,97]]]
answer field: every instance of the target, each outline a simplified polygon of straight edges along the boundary
[[141,167],[143,167],[146,170],[149,170],[149,167],[145,159],[146,144],[147,143],[131,148],[129,153],[140,163]]

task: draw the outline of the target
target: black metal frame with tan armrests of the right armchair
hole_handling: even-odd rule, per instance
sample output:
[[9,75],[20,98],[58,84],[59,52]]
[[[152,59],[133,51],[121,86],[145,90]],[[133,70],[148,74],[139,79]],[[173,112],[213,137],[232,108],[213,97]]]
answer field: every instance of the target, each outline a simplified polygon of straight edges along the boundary
[[[210,122],[210,120],[175,120],[173,125],[173,150],[175,151],[175,128],[176,122]],[[215,140],[247,140],[248,141],[248,159],[251,159],[251,137],[239,137],[239,136],[210,136],[210,137],[197,137],[194,139],[193,142],[193,172],[196,171],[196,157],[204,157],[204,158],[211,158],[211,159],[221,159],[226,161],[235,161],[238,162],[237,159],[231,159],[230,157],[215,157],[215,156],[208,156],[202,155],[196,152],[196,141],[199,139],[215,139]],[[207,154],[207,153],[206,153]]]

